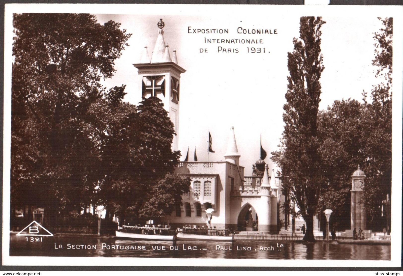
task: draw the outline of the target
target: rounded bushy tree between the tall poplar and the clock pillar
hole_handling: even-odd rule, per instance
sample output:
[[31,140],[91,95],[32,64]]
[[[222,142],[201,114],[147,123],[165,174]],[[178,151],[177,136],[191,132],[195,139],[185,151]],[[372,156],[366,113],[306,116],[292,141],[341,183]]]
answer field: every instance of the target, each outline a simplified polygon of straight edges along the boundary
[[318,115],[319,148],[326,189],[319,197],[318,212],[332,209],[332,222],[339,229],[350,229],[351,175],[363,164],[365,137],[362,113],[364,106],[356,100],[334,101]]

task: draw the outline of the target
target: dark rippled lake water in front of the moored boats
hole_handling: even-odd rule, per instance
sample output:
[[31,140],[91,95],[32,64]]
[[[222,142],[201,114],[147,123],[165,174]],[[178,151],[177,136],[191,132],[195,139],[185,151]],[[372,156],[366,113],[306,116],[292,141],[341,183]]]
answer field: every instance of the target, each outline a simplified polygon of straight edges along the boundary
[[284,241],[140,241],[116,237],[10,236],[11,256],[163,257],[276,260],[391,260],[390,245]]

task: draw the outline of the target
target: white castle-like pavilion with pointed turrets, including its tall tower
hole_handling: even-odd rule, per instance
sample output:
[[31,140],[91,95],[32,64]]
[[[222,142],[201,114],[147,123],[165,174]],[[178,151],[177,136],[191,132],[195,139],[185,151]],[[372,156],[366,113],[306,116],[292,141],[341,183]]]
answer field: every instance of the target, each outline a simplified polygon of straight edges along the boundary
[[[142,81],[142,98],[157,97],[174,124],[176,136],[172,150],[178,149],[180,79],[186,72],[178,64],[176,51],[169,52],[164,41],[164,22],[158,22],[158,36],[150,58],[147,46],[141,63],[133,64]],[[281,181],[269,176],[268,166],[259,159],[253,165],[253,175],[245,176],[239,165],[234,128],[231,128],[224,161],[181,162],[176,173],[190,177],[191,189],[183,194],[183,204],[176,206],[164,218],[171,225],[206,226],[206,212],[213,208],[211,226],[233,230],[259,230],[276,232]]]

